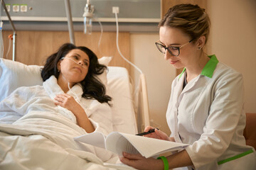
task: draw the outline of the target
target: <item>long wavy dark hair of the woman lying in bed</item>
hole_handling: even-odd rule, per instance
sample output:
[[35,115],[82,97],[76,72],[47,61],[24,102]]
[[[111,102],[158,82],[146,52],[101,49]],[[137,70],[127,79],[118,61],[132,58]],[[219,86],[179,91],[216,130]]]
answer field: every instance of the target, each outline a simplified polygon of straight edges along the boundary
[[83,79],[80,84],[82,85],[82,97],[87,99],[95,98],[100,103],[109,103],[112,100],[110,96],[106,95],[106,87],[102,84],[102,82],[97,79],[96,75],[102,74],[107,67],[103,64],[100,64],[97,60],[97,56],[94,52],[92,52],[87,47],[77,47],[70,43],[65,43],[62,45],[57,52],[50,55],[47,60],[46,64],[44,65],[41,77],[43,81],[49,79],[52,75],[54,75],[57,79],[59,76],[58,72],[58,62],[62,57],[68,54],[71,50],[79,49],[85,52],[90,60],[89,69],[85,79]]

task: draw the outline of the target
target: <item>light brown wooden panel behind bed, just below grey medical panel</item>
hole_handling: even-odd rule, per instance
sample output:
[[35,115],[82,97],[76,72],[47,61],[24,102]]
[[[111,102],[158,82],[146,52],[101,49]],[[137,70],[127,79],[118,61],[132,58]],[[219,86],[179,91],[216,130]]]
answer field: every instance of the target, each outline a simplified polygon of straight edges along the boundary
[[[12,60],[12,41],[9,55],[6,52],[9,47],[8,35],[11,30],[3,30],[4,58]],[[110,66],[125,67],[130,72],[130,65],[119,55],[116,44],[115,32],[104,32],[100,43],[100,32],[93,32],[92,35],[85,35],[82,32],[75,32],[75,45],[89,47],[97,57],[112,56]],[[122,55],[130,60],[130,34],[119,33],[119,49]],[[70,42],[68,31],[17,31],[16,33],[16,61],[24,64],[43,65],[46,58],[58,50],[60,45]]]

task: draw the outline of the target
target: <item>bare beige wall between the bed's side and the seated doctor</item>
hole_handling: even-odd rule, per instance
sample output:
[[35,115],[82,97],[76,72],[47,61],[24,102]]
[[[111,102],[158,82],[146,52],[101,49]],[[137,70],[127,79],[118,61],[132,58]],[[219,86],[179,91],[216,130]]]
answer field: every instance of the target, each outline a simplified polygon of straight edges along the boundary
[[[159,40],[159,33],[132,33],[131,60],[139,69],[142,69],[146,77],[149,114],[150,119],[154,120],[151,125],[161,128],[169,134],[165,115],[171,94],[171,81],[174,79],[176,71],[156,49],[154,44],[156,40]],[[132,72],[132,77],[135,77],[135,80],[138,79],[138,75],[139,72]]]

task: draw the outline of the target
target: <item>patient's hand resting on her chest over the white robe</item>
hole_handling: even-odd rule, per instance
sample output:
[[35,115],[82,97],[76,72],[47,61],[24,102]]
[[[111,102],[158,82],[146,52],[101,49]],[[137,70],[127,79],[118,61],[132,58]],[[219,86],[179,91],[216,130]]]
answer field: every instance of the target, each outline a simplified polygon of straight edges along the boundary
[[68,94],[57,94],[54,99],[54,103],[56,106],[67,108],[73,114],[83,111],[82,107],[78,102],[75,101],[75,98],[73,98],[73,96],[70,96]]

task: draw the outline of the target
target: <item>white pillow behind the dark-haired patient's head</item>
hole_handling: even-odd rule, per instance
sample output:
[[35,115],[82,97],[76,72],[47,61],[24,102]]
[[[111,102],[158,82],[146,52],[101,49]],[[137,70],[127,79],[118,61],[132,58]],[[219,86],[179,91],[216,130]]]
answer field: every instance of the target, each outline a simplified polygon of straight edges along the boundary
[[[101,57],[100,64],[108,65],[112,57]],[[107,72],[97,76],[107,89]],[[20,86],[42,85],[41,66],[26,65],[0,58],[0,101]]]

